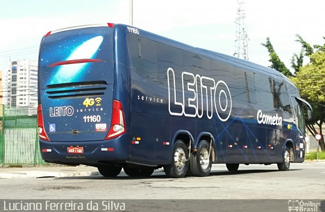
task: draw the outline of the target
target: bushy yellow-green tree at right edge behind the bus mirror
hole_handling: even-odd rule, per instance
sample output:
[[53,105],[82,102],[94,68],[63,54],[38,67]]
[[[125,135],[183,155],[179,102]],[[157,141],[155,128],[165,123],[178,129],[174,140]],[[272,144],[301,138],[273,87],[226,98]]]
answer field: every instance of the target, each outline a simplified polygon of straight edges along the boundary
[[[296,77],[291,77],[298,89],[300,95],[307,99],[313,106],[314,118],[307,121],[306,126],[309,132],[315,136],[318,129],[322,135],[321,126],[325,123],[325,52],[317,51],[309,55],[310,63],[300,68]],[[319,141],[319,146],[322,151],[325,151],[324,138],[322,136]]]

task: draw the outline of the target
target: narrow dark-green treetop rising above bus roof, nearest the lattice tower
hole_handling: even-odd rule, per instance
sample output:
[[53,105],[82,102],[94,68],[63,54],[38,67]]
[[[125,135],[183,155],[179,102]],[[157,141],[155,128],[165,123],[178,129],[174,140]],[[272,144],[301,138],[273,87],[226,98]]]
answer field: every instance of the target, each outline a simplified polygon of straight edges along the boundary
[[293,76],[288,68],[284,65],[284,63],[281,61],[278,54],[274,51],[273,45],[271,44],[270,38],[266,38],[266,43],[261,43],[262,46],[266,47],[268,49],[270,59],[269,61],[272,63],[269,68],[278,70],[285,76]]

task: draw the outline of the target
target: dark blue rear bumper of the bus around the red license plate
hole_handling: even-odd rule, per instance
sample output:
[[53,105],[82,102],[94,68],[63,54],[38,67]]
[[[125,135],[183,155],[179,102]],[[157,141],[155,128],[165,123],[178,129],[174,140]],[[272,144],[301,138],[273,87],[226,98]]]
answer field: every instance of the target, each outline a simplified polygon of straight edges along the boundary
[[[58,164],[88,164],[125,162],[129,159],[129,134],[111,140],[54,142],[40,139],[42,159]],[[82,153],[69,153],[68,147],[79,147]],[[82,150],[81,150],[82,149]]]

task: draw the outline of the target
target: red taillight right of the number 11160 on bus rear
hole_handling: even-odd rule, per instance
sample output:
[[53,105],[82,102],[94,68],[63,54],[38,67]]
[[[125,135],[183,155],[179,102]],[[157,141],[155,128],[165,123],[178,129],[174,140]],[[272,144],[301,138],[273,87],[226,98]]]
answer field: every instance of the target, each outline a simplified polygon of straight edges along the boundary
[[111,128],[105,140],[115,138],[126,132],[125,118],[121,102],[113,100]]

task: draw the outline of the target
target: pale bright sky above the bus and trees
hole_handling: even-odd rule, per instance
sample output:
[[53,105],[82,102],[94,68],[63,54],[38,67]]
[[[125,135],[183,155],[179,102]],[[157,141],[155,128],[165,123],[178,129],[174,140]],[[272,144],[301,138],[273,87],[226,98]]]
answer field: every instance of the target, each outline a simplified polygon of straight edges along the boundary
[[[325,1],[243,2],[251,62],[271,65],[261,45],[267,37],[288,68],[292,55],[301,50],[296,34],[311,45],[325,43]],[[133,0],[133,26],[233,55],[238,7],[237,0]],[[129,25],[129,0],[0,0],[0,70],[7,70],[10,58],[37,60],[41,39],[49,31],[107,22]]]

